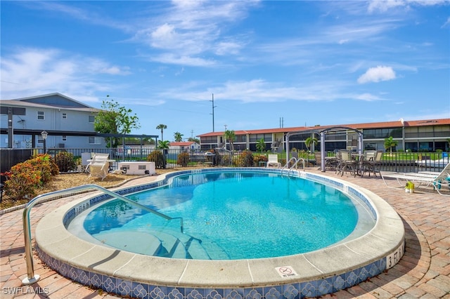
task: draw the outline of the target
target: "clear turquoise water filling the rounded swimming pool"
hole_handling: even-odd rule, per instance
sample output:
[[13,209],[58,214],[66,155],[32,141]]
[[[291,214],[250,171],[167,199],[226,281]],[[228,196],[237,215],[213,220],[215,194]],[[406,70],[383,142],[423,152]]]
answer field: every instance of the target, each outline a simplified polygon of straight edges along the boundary
[[354,232],[359,214],[333,187],[261,172],[179,175],[171,184],[128,196],[184,219],[165,220],[123,201],[86,212],[83,227],[99,242],[172,258],[271,258],[314,251]]

